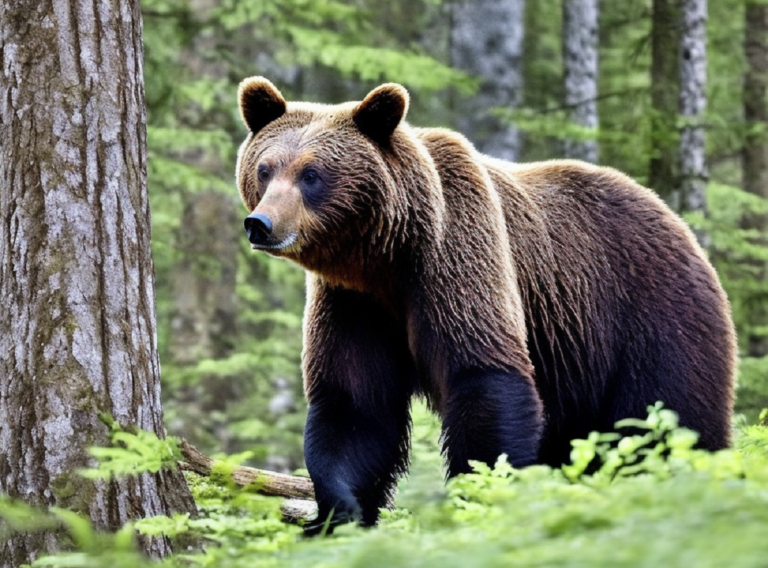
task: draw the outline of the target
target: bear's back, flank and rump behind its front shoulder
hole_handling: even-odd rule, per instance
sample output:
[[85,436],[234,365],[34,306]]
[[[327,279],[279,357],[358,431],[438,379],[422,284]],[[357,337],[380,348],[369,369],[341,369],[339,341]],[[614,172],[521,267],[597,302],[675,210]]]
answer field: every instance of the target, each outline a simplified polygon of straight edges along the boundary
[[[621,381],[644,377],[647,390],[663,390],[672,408],[729,407],[717,402],[732,399],[735,374],[727,299],[691,230],[652,191],[610,168],[573,160],[513,164],[477,153],[449,131],[418,136],[446,196],[466,191],[452,182],[451,166],[440,163],[446,154],[434,151],[449,144],[452,159],[466,152],[486,170],[492,187],[478,195],[501,203],[528,352],[552,425],[544,461],[556,463],[568,452],[547,438],[586,436],[645,414],[655,400],[618,400]],[[691,396],[709,400],[683,403]],[[605,404],[606,397],[616,404]],[[682,414],[683,424],[702,422]],[[718,435],[701,433],[705,447],[722,446]]]

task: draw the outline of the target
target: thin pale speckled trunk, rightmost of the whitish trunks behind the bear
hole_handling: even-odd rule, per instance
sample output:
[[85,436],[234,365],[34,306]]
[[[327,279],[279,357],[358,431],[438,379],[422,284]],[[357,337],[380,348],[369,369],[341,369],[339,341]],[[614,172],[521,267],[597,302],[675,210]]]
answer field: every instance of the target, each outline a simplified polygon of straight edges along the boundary
[[[707,2],[680,2],[680,210],[706,214],[704,110],[707,106]],[[697,234],[706,244],[705,235]]]

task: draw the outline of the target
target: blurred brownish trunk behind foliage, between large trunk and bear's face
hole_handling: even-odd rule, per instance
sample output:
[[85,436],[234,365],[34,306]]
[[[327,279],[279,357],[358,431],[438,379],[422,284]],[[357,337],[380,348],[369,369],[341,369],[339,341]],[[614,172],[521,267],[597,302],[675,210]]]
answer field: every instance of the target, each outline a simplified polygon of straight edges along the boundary
[[[213,17],[218,0],[193,0],[194,15],[201,21]],[[254,49],[246,36],[252,30],[241,30],[240,44],[257,57],[260,72],[269,77],[295,75],[295,68],[280,68],[263,49]],[[245,35],[243,35],[243,33]],[[221,38],[197,34],[184,46],[180,62],[195,77],[226,81],[228,68],[210,54],[218,49]],[[279,73],[278,73],[279,70]],[[218,112],[218,111],[216,111]],[[214,111],[191,114],[189,126],[221,123]],[[194,145],[194,141],[190,141]],[[210,175],[227,178],[230,164],[219,153],[192,146],[183,150],[165,149],[170,159],[178,160]],[[232,354],[237,340],[237,270],[243,234],[240,204],[230,193],[215,190],[180,192],[183,203],[181,224],[175,231],[173,266],[161,274],[172,286],[170,313],[169,359],[179,367],[194,368],[206,359],[224,359]],[[201,238],[201,236],[204,236]],[[258,286],[258,283],[254,283]],[[244,394],[243,381],[230,375],[207,373],[195,380],[183,381],[169,389],[167,408],[173,410],[174,420],[169,429],[183,433],[197,443],[216,439],[220,451],[242,451],[232,446],[232,433],[226,420],[227,408]],[[247,389],[246,389],[247,392]]]

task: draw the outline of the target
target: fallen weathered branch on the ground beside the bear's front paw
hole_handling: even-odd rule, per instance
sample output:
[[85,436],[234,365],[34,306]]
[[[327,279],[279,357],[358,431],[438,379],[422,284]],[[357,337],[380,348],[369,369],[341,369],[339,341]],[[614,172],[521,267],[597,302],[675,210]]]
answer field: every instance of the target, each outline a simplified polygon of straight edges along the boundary
[[[213,473],[217,460],[202,454],[186,440],[181,440],[179,449],[186,460],[179,462],[182,470],[206,477]],[[281,507],[285,522],[298,523],[311,519],[317,513],[317,504],[314,501],[315,487],[308,477],[241,465],[232,470],[230,479],[226,481],[232,481],[240,487],[248,487],[262,495],[288,499]]]

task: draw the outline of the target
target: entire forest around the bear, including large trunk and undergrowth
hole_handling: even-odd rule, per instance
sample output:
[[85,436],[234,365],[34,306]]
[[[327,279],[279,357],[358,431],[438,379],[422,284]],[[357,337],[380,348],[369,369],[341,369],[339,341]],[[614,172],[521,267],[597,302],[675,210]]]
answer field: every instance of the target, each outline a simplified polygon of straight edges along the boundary
[[[165,427],[217,457],[186,484],[142,276],[139,4]],[[768,565],[768,0],[6,0],[0,52],[0,566]],[[444,484],[416,403],[374,530],[305,539],[259,481],[236,487],[246,460],[303,466],[306,414],[304,274],[249,249],[235,186],[252,75],[329,103],[395,81],[412,124],[655,189],[733,306],[733,448],[694,450],[659,403],[562,468]]]

